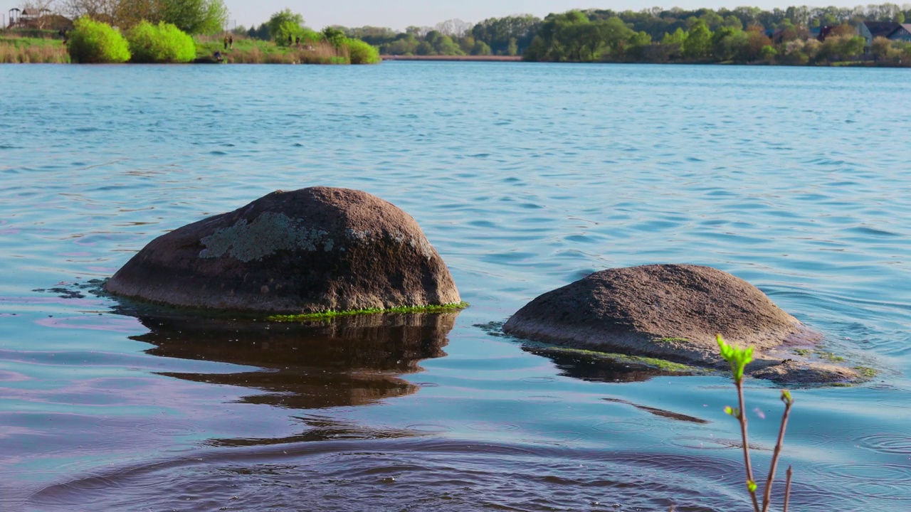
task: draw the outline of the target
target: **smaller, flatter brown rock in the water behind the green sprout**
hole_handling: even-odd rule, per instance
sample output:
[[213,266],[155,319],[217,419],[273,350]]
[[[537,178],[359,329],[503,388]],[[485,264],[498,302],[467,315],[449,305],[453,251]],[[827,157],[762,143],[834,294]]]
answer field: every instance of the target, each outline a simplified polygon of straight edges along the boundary
[[595,272],[537,297],[503,331],[538,342],[725,367],[715,342],[755,347],[754,376],[802,384],[855,380],[854,371],[797,361],[788,352],[821,340],[752,284],[699,265]]

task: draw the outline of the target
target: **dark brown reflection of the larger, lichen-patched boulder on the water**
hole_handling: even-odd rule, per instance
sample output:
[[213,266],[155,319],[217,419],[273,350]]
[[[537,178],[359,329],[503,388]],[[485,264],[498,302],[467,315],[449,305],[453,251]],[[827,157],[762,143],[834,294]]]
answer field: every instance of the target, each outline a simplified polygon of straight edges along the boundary
[[418,386],[400,375],[419,372],[423,359],[445,355],[456,315],[372,314],[312,323],[140,315],[151,332],[133,339],[155,345],[147,351],[153,355],[260,368],[169,376],[265,392],[244,397],[245,403],[316,409],[415,393]]

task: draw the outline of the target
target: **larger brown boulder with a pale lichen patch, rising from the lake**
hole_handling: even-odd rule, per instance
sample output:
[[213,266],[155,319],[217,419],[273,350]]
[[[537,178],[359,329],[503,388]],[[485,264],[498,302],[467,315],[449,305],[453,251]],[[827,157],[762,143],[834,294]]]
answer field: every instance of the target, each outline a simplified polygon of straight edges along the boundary
[[162,235],[107,292],[193,308],[301,314],[459,303],[417,222],[366,192],[276,191]]

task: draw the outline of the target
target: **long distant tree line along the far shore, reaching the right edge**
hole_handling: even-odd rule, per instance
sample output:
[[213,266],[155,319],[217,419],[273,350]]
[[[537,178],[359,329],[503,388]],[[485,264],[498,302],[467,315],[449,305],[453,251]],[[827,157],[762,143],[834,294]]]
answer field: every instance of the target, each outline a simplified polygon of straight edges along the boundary
[[[855,26],[864,21],[911,19],[911,5],[858,7],[791,6],[763,10],[662,9],[640,11],[576,10],[511,15],[469,24],[447,20],[436,26],[333,26],[362,39],[386,55],[524,56],[533,61],[589,62],[759,62],[822,64],[865,52]],[[244,29],[248,36],[271,39],[274,24]],[[818,41],[814,29],[836,26]],[[830,40],[831,39],[831,40]],[[874,55],[901,60],[905,46],[879,41]],[[911,56],[906,58],[911,60]]]

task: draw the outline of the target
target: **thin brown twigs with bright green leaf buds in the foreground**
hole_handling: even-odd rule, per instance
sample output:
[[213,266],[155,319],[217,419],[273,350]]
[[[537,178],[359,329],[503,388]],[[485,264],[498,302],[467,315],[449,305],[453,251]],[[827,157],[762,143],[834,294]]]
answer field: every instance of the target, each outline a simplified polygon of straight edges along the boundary
[[[765,481],[763,492],[763,506],[760,507],[759,500],[756,497],[758,485],[752,475],[752,465],[750,464],[750,444],[746,432],[746,406],[743,404],[743,369],[752,361],[752,347],[745,349],[738,348],[724,342],[721,334],[717,334],[715,339],[722,351],[722,358],[731,364],[731,373],[734,378],[734,385],[737,386],[738,408],[725,407],[724,412],[737,418],[741,425],[741,437],[743,442],[743,465],[746,466],[746,488],[750,491],[752,499],[752,508],[754,512],[768,512],[769,505],[772,502],[772,485],[775,479],[775,469],[778,466],[778,457],[782,455],[782,445],[784,444],[784,430],[788,425],[788,416],[791,415],[791,406],[794,403],[791,392],[782,390],[782,402],[784,403],[784,415],[782,415],[782,426],[778,431],[778,442],[775,444],[775,451],[772,456],[772,466],[769,468],[769,476]],[[783,512],[787,512],[788,503],[791,500],[791,478],[793,468],[788,467],[787,483],[784,486],[784,504]]]

